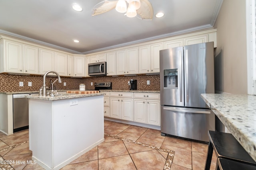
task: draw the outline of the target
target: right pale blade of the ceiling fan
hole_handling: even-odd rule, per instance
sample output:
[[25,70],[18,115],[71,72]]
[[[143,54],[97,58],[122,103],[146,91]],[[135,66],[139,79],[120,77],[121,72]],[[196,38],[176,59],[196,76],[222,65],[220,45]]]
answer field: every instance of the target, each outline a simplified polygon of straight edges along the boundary
[[151,3],[148,0],[140,0],[140,8],[137,10],[142,20],[152,20],[154,11]]

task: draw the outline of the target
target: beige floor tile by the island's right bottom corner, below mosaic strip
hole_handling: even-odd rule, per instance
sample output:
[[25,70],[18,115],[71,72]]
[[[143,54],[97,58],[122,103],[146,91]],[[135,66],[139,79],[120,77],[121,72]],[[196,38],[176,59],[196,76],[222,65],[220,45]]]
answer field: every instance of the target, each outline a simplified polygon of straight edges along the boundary
[[123,141],[106,142],[98,145],[98,158],[110,158],[129,154]]

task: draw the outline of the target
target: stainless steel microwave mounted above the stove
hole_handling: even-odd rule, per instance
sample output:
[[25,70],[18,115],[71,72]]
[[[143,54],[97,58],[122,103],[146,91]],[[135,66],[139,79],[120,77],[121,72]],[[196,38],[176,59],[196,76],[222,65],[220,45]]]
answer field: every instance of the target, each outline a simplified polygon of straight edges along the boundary
[[106,62],[90,63],[88,64],[88,75],[89,76],[106,76],[107,73]]

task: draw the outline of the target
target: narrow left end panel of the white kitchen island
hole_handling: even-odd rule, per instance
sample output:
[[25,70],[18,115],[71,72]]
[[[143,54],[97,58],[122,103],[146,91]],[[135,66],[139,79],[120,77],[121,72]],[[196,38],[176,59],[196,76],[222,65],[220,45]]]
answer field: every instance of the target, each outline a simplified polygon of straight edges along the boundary
[[32,156],[52,165],[52,102],[29,100],[29,149]]

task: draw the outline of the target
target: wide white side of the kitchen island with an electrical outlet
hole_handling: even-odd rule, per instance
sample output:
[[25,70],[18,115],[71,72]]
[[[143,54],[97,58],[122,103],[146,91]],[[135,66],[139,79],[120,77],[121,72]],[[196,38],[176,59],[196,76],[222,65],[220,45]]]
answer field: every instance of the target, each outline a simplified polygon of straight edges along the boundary
[[104,141],[104,96],[55,100],[52,111],[54,167]]

